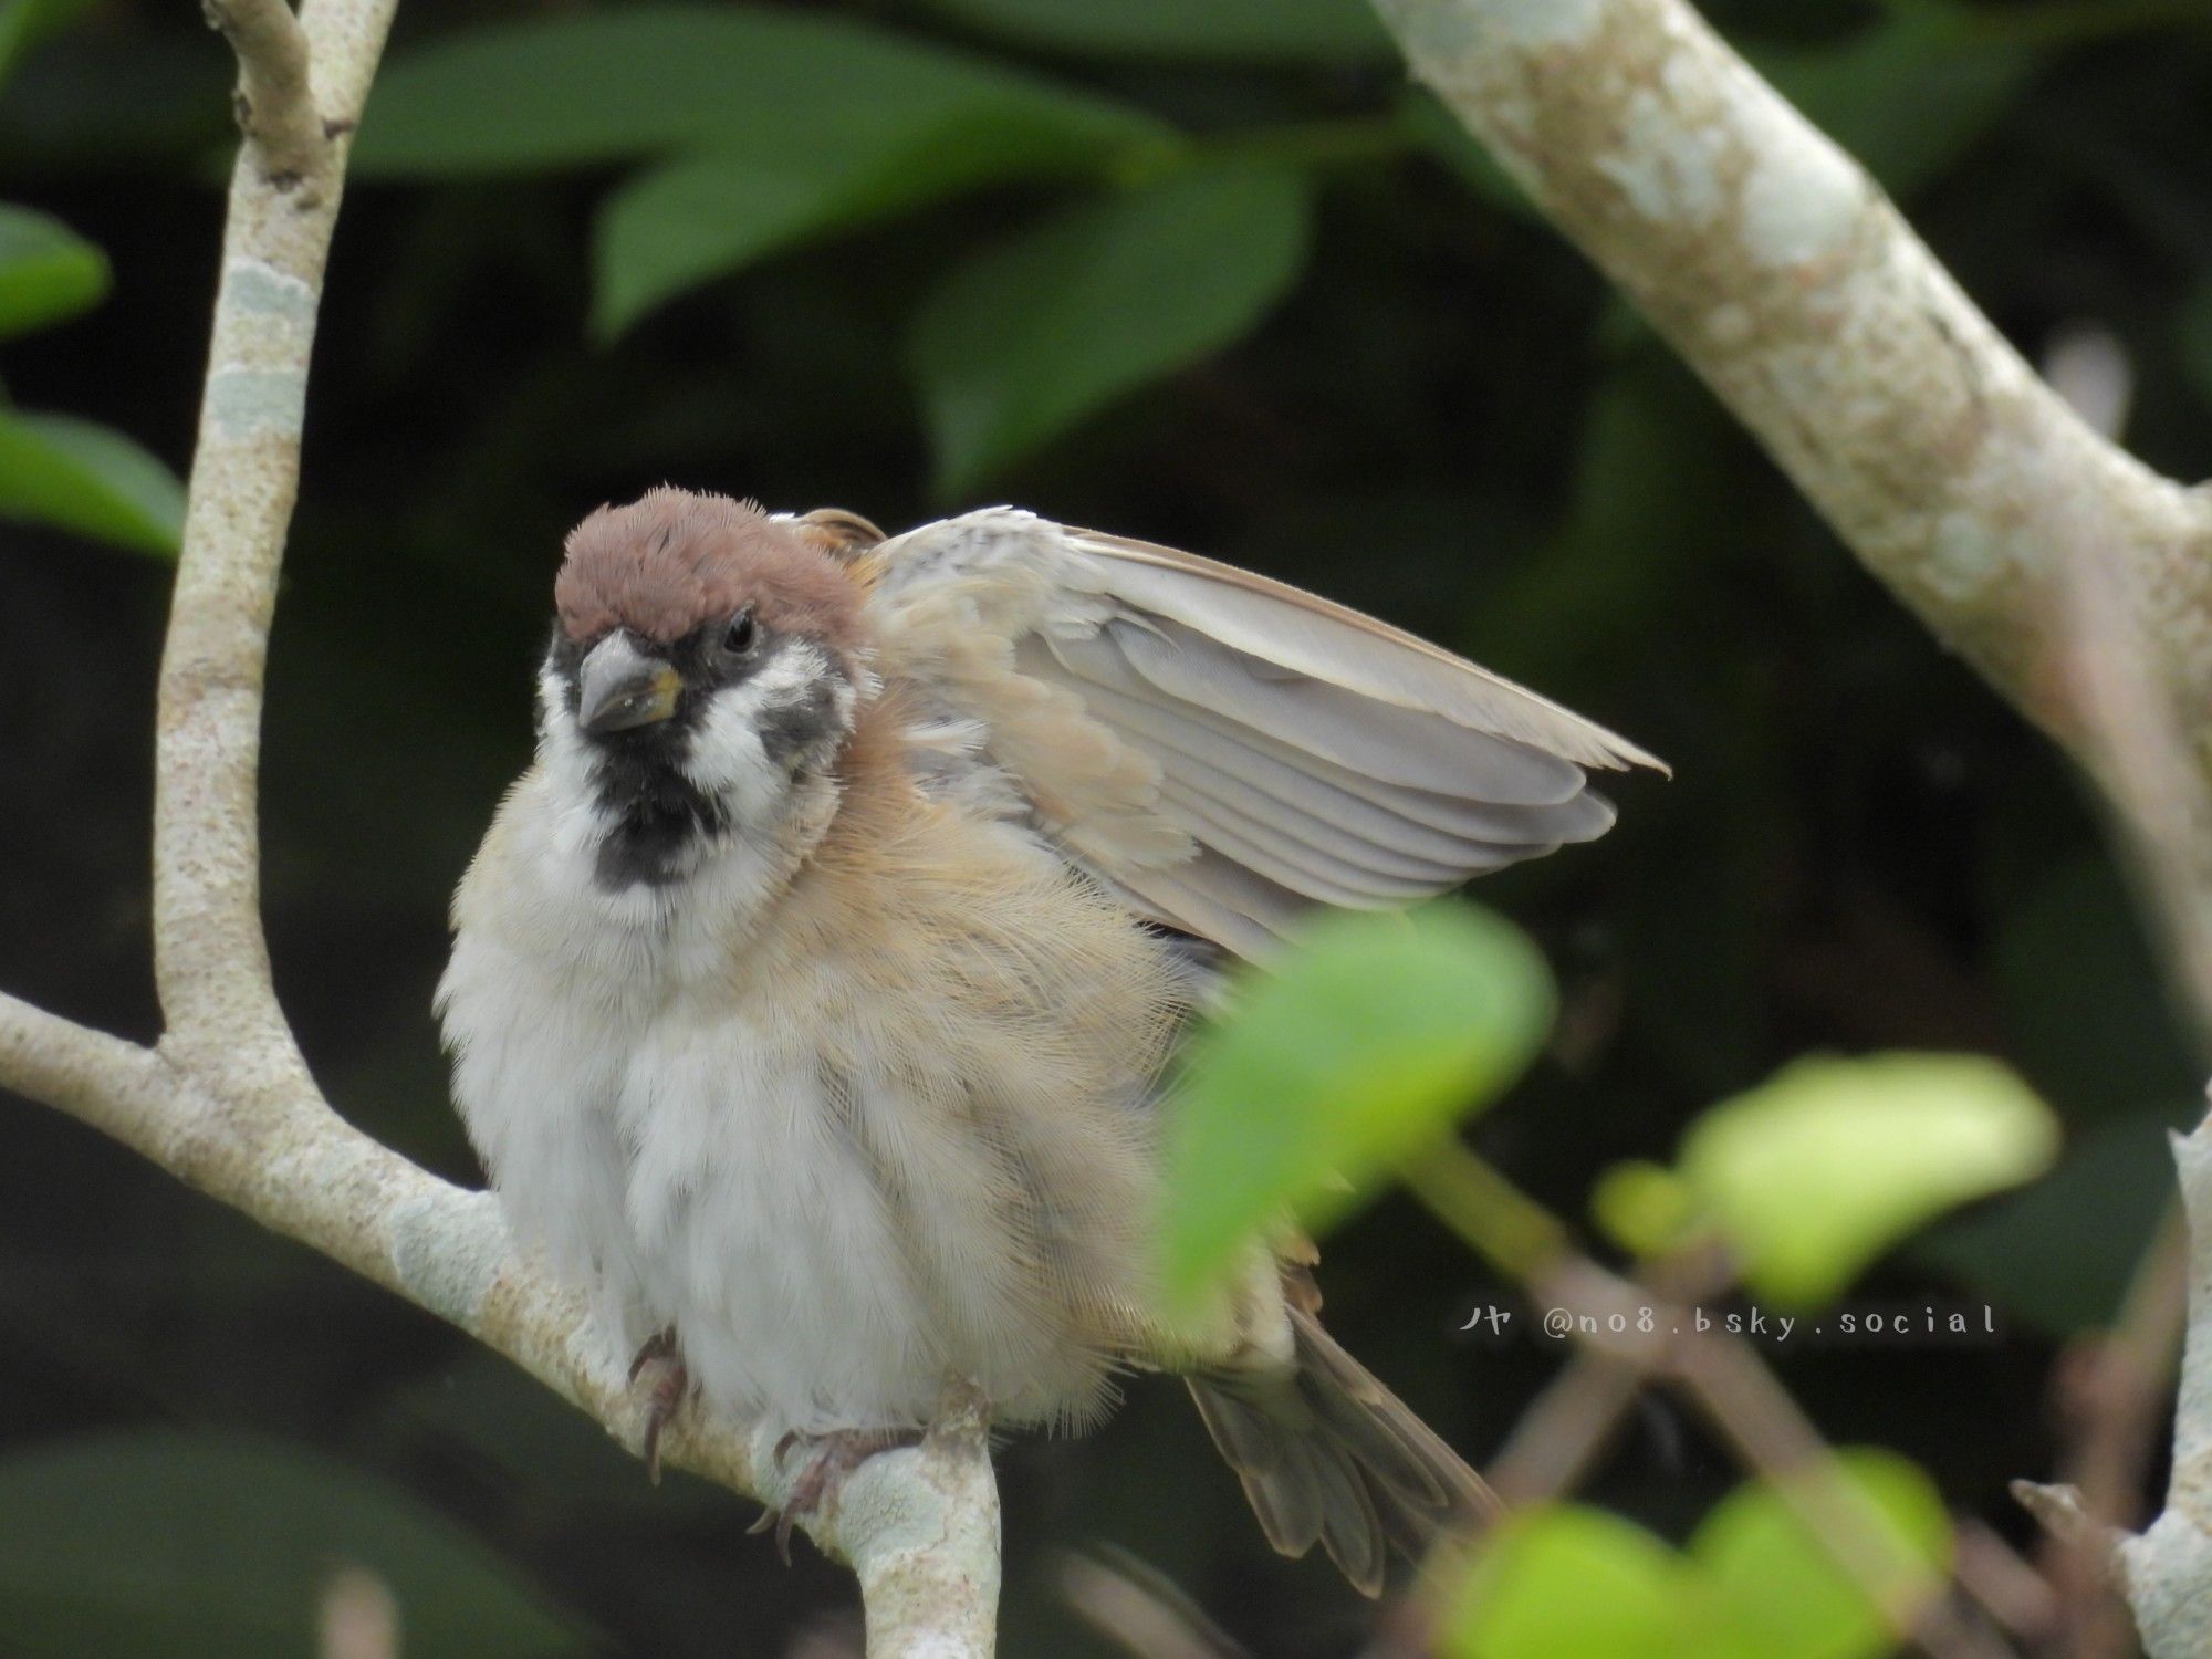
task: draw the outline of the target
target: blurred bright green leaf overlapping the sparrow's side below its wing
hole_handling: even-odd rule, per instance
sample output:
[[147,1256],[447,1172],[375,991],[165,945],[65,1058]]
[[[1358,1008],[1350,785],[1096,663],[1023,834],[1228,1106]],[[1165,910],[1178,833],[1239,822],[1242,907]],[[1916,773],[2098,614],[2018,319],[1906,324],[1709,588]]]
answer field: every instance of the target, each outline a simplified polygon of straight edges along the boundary
[[1318,920],[1186,1051],[1168,1135],[1168,1296],[1194,1303],[1285,1210],[1316,1228],[1340,1219],[1511,1084],[1551,1011],[1544,958],[1489,911]]

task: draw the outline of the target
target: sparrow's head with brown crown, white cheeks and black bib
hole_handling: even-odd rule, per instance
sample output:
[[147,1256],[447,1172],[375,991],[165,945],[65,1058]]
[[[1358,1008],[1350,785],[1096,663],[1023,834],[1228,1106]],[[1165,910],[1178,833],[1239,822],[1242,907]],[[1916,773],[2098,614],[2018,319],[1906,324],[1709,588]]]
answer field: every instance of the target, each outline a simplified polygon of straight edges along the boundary
[[869,684],[860,591],[818,526],[655,489],[568,535],[538,681],[546,763],[606,818],[599,878],[661,885],[772,832]]

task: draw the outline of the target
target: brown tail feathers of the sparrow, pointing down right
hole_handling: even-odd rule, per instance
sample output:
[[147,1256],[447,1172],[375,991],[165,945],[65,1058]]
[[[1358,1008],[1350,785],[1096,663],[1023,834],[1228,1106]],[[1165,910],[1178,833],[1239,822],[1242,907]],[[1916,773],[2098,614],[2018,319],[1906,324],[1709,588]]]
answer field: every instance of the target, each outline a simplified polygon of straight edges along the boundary
[[1438,1533],[1473,1533],[1500,1513],[1498,1495],[1310,1312],[1290,1323],[1294,1367],[1206,1371],[1190,1394],[1267,1542],[1283,1555],[1318,1542],[1380,1595],[1385,1546],[1418,1557]]

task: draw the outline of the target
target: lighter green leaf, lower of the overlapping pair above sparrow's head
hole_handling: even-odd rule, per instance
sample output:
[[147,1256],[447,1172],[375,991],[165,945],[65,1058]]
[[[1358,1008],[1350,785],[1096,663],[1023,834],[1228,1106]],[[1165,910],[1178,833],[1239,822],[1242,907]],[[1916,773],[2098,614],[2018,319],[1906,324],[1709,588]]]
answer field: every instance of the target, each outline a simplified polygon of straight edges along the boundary
[[869,219],[1015,177],[1084,170],[1095,146],[1040,128],[863,122],[805,144],[717,150],[630,179],[599,210],[593,332],[613,338],[655,305],[754,259]]

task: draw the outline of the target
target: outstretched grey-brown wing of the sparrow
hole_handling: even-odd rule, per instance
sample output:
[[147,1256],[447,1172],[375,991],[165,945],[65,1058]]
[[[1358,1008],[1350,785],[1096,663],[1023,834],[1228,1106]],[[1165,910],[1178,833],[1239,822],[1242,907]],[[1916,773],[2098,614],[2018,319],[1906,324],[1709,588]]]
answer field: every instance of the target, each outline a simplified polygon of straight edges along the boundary
[[1584,768],[1659,765],[1345,606],[1009,507],[856,573],[880,670],[962,787],[1241,956],[1312,905],[1402,905],[1590,841],[1613,807]]

